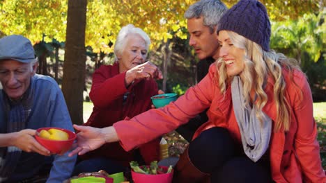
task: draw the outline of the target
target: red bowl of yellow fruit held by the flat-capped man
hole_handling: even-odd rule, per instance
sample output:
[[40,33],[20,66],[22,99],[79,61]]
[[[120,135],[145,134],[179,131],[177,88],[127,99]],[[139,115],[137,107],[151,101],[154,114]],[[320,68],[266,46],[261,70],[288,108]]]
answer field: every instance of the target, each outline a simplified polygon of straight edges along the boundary
[[39,137],[38,135],[35,136],[36,141],[40,143],[42,146],[47,148],[51,153],[54,154],[63,154],[70,150],[72,143],[76,139],[76,134],[75,132],[72,132],[70,130],[66,130],[63,128],[55,128],[55,127],[47,127],[47,128],[38,128],[36,130],[37,132],[40,132],[41,130],[49,130],[49,129],[57,129],[57,130],[62,130],[63,132],[66,132],[68,134],[68,140],[66,141],[56,141],[56,140],[51,140],[51,139],[44,139],[42,137]]

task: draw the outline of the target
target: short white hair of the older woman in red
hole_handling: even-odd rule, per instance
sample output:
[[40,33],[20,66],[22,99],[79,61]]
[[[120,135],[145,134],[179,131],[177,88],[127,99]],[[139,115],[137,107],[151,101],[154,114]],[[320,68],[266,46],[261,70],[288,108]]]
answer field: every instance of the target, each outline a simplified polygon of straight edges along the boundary
[[146,49],[148,50],[150,46],[150,37],[141,30],[141,28],[135,27],[132,24],[128,24],[127,26],[124,26],[121,28],[121,30],[118,33],[118,36],[116,37],[116,44],[114,44],[114,60],[118,61],[118,54],[122,54],[123,49],[125,49],[125,42],[127,41],[127,36],[130,34],[138,34],[146,43]]

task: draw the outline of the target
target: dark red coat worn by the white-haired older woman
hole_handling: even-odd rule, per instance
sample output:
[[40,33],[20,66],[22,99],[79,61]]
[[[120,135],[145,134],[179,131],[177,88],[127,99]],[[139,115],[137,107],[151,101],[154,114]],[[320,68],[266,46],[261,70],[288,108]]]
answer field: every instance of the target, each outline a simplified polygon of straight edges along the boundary
[[[101,66],[93,73],[93,84],[89,94],[93,102],[93,112],[84,125],[96,128],[111,126],[116,121],[132,118],[141,112],[150,109],[150,96],[157,94],[155,80],[140,80],[134,82],[128,89],[125,87],[125,72],[119,73],[117,63]],[[123,95],[130,92],[123,105]],[[130,129],[131,130],[131,129]],[[132,139],[137,141],[137,137]],[[139,147],[146,164],[159,159],[160,141],[155,139]],[[128,166],[134,160],[134,150],[126,152],[119,143],[107,143],[104,146],[83,155],[83,159],[90,157],[108,157]]]

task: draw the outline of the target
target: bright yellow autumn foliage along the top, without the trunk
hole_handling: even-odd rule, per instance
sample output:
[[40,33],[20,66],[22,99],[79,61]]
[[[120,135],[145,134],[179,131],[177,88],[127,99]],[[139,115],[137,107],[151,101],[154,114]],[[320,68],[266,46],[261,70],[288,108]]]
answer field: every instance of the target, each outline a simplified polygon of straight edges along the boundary
[[[91,0],[87,4],[85,45],[95,53],[109,53],[118,30],[126,24],[134,24],[150,35],[153,47],[172,36],[187,38],[181,31],[186,28],[183,13],[196,0],[150,1],[150,0]],[[238,0],[225,0],[228,7]],[[304,13],[317,12],[323,6],[322,0],[261,0],[274,20],[297,19]],[[34,44],[56,39],[65,41],[67,24],[67,0],[0,1],[0,31],[3,35],[21,34]],[[171,34],[171,33],[175,34]]]

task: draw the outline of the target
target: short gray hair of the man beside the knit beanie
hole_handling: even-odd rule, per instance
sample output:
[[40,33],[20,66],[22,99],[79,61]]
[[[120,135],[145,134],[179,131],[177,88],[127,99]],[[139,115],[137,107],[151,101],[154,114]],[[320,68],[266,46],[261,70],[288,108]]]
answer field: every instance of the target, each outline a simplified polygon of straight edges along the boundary
[[185,12],[185,18],[203,17],[204,26],[209,26],[213,31],[226,10],[228,8],[219,0],[201,0],[189,6]]

